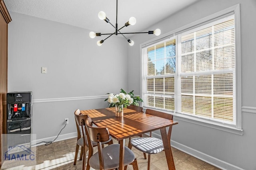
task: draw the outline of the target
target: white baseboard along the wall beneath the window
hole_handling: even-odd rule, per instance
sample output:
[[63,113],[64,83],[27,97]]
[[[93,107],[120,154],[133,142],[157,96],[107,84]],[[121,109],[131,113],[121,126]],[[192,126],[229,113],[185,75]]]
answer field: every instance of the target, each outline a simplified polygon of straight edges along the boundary
[[[159,135],[157,133],[152,132],[152,136],[161,139],[161,135]],[[190,154],[191,156],[194,156],[195,158],[198,158],[204,162],[207,162],[208,164],[216,166],[222,170],[244,170],[238,166],[232,165],[228,162],[225,162],[223,160],[220,160],[218,158],[215,158],[213,156],[210,156],[208,154],[205,154],[205,153],[195,150],[193,148],[187,147],[186,145],[183,145],[183,144],[178,143],[173,140],[171,140],[171,146],[178,150],[181,150],[182,152]]]

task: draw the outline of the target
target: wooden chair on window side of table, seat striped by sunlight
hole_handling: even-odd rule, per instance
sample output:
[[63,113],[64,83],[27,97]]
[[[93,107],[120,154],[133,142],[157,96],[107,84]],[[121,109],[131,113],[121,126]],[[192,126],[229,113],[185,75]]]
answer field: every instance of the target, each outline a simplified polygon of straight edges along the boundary
[[[164,113],[161,111],[146,109],[146,114],[173,120],[172,114]],[[172,126],[170,126],[168,130],[168,134],[167,134],[168,141],[170,141],[171,139],[171,133],[172,133]],[[151,137],[151,136],[152,135],[150,133],[150,137],[138,137],[138,138],[131,139],[130,146],[128,146],[130,149],[134,147],[140,150],[141,152],[148,154],[148,170],[150,170],[150,155],[157,154],[162,150],[164,150],[163,141],[161,139]]]

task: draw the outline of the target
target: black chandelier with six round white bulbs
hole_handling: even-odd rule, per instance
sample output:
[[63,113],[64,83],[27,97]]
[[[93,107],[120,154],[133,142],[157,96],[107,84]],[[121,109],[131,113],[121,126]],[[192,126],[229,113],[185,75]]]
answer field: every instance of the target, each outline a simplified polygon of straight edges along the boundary
[[[134,34],[134,33],[121,33],[120,32],[120,29],[122,29],[123,27],[127,27],[129,25],[134,25],[136,23],[136,18],[134,17],[131,17],[129,19],[129,21],[127,21],[123,27],[121,27],[120,29],[118,29],[118,24],[117,24],[117,1],[116,0],[116,26],[114,26],[110,20],[106,17],[106,14],[105,12],[103,11],[100,11],[98,13],[98,17],[100,18],[100,20],[104,20],[106,21],[107,23],[110,23],[110,25],[112,25],[114,28],[115,28],[115,32],[114,33],[94,33],[94,32],[90,32],[89,33],[89,36],[90,38],[94,38],[94,37],[97,37],[97,36],[101,36],[101,35],[109,35],[108,37],[106,37],[105,39],[102,39],[100,41],[97,41],[97,45],[98,46],[101,46],[102,43],[104,43],[104,41],[106,39],[108,39],[109,37],[111,37],[112,35],[118,35],[118,34],[121,34],[129,43],[130,46],[134,45],[134,41],[128,39],[124,34]],[[148,33],[148,34],[154,34],[156,36],[160,35],[161,34],[161,30],[160,29],[155,29],[154,31],[148,31],[148,32],[135,32],[135,33]]]

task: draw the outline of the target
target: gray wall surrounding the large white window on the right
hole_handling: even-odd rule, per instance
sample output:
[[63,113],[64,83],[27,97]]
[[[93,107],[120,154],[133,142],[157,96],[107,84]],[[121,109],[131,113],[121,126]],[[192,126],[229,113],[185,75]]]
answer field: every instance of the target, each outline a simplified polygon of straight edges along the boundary
[[[178,125],[172,129],[172,144],[182,147],[185,152],[194,154],[194,156],[204,156],[206,161],[207,159],[214,160],[216,162],[211,163],[223,169],[256,170],[256,79],[253,76],[256,72],[254,42],[256,39],[256,1],[201,0],[152,25],[148,30],[160,28],[162,34],[168,33],[239,3],[241,16],[242,129],[244,129],[244,134],[242,136],[235,135],[179,120]],[[140,75],[135,73],[140,72],[140,44],[148,41],[150,37],[136,35],[131,39],[136,43],[128,51],[128,64],[135,65],[136,69],[133,72],[128,72],[128,88],[137,91],[140,90]]]

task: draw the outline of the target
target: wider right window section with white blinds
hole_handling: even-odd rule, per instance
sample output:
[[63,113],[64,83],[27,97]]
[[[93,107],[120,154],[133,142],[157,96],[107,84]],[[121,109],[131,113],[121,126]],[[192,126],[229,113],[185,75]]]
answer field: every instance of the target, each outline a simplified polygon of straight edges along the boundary
[[177,111],[235,124],[234,16],[178,37]]

